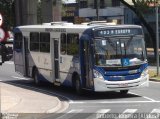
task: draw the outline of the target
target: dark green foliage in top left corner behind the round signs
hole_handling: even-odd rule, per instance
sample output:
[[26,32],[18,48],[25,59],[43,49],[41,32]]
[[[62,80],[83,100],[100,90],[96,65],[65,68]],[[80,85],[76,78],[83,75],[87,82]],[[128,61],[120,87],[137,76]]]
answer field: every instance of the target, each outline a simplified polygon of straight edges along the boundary
[[5,30],[9,30],[10,27],[14,25],[14,1],[1,0],[0,13],[3,16],[3,26],[5,27]]

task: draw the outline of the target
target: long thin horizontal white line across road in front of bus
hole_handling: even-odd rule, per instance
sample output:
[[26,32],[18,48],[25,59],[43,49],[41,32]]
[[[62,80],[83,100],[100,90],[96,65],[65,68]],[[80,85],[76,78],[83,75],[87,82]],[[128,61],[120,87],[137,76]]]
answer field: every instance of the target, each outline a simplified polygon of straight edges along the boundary
[[160,101],[102,101],[102,102],[81,102],[81,101],[73,101],[69,102],[69,104],[127,104],[127,103],[160,103]]

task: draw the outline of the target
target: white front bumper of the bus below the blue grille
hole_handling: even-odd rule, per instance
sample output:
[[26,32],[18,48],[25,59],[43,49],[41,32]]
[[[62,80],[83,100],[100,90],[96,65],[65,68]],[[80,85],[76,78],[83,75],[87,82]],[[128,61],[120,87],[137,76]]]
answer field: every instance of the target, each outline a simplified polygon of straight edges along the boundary
[[94,78],[94,91],[105,92],[105,91],[119,91],[119,90],[130,90],[141,87],[149,86],[149,75],[141,76],[134,80],[125,81],[107,81],[104,79]]

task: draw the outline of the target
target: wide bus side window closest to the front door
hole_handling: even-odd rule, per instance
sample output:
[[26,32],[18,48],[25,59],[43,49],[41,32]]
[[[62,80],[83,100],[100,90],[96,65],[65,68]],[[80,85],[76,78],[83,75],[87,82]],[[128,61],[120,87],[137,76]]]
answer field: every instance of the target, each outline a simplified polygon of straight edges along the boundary
[[67,55],[79,54],[79,34],[67,34]]

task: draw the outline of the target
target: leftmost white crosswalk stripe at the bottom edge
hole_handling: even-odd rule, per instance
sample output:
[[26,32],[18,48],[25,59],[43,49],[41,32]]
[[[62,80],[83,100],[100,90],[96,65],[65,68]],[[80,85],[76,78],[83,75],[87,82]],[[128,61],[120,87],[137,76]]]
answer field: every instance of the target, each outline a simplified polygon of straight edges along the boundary
[[66,114],[56,118],[56,119],[71,119],[73,116],[77,115],[78,113],[82,112],[83,109],[73,109],[67,112]]

